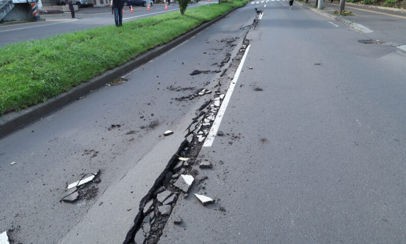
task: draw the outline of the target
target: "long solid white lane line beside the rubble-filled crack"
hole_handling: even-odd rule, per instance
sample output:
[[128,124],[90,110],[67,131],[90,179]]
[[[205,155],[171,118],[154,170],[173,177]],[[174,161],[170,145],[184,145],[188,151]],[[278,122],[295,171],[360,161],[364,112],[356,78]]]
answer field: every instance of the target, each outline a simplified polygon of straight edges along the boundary
[[230,101],[232,91],[234,91],[235,84],[237,83],[238,77],[240,76],[241,70],[243,69],[243,65],[245,59],[247,58],[247,54],[248,51],[250,50],[250,47],[251,45],[248,45],[247,49],[245,50],[244,56],[241,59],[241,63],[238,66],[237,71],[235,71],[234,78],[232,79],[230,87],[228,88],[227,93],[225,94],[225,97],[223,99],[223,102],[221,103],[219,112],[217,113],[216,118],[214,119],[212,128],[210,128],[209,135],[207,136],[206,141],[203,144],[204,147],[211,147],[213,144],[214,137],[216,136],[217,131],[220,127],[221,119],[223,118],[225,109],[227,108],[228,102]]

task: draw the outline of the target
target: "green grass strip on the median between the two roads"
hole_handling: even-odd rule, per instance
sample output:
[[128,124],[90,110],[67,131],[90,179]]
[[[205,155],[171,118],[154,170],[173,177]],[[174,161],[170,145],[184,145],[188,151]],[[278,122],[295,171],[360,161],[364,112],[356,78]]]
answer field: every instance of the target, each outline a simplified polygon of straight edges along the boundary
[[0,49],[0,114],[46,101],[247,0],[30,40]]

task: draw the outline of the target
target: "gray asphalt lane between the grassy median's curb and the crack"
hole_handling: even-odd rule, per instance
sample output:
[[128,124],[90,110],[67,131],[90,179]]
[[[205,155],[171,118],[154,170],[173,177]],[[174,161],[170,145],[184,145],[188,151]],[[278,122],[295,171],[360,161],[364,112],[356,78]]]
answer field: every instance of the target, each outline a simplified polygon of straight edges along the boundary
[[[12,230],[9,236],[23,243],[122,242],[141,198],[212,94],[175,98],[217,85],[214,71],[224,68],[218,63],[226,52],[235,55],[247,31],[240,27],[254,17],[238,10],[127,74],[124,84],[93,91],[0,140],[1,232]],[[195,69],[210,72],[191,76]],[[163,137],[166,130],[175,133]],[[86,188],[95,193],[59,202],[66,184],[97,169],[101,182]]]

